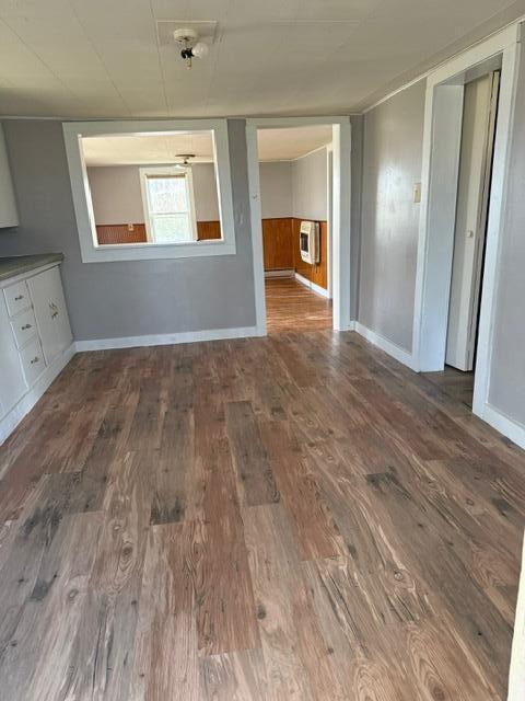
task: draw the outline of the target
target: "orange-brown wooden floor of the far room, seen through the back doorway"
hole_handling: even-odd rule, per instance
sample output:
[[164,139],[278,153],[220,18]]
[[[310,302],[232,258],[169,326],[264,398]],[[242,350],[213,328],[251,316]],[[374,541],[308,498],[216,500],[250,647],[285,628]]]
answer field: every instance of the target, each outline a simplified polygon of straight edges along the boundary
[[291,277],[266,278],[269,334],[331,329],[331,301]]

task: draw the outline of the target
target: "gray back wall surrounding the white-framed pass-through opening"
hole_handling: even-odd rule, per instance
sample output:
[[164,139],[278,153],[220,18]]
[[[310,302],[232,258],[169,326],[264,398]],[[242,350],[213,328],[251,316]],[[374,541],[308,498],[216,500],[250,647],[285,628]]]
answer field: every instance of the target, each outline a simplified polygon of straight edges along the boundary
[[4,130],[20,227],[0,233],[0,255],[63,252],[77,340],[255,325],[244,120],[229,120],[236,255],[118,263],[81,261],[61,124]]

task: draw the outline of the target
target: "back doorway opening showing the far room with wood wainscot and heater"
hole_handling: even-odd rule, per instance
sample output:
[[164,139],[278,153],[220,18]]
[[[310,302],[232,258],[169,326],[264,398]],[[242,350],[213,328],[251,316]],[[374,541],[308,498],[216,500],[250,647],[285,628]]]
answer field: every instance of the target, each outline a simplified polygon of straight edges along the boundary
[[331,329],[331,125],[258,129],[257,151],[267,331]]

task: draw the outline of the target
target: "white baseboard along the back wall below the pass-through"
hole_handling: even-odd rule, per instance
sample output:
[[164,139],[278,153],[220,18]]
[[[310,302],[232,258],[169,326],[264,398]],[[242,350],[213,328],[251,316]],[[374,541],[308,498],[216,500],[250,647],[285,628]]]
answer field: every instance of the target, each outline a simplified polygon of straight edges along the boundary
[[135,348],[138,346],[166,346],[179,343],[196,343],[198,341],[223,341],[226,338],[246,338],[264,335],[257,326],[241,326],[238,329],[210,329],[208,331],[185,331],[182,333],[161,333],[144,336],[122,336],[118,338],[94,338],[92,341],[77,341],[79,353],[85,350],[109,350],[110,348]]

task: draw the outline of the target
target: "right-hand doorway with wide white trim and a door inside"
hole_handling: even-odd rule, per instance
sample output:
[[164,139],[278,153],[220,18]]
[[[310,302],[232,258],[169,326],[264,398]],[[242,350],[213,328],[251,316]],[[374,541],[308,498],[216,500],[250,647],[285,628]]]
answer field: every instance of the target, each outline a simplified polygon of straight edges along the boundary
[[[471,402],[466,403],[503,433],[509,428],[490,404],[489,388],[518,59],[517,31],[509,27],[451,59],[427,80],[412,348],[419,371],[442,372],[443,381],[459,383],[467,377]],[[476,83],[478,79],[485,81]],[[487,96],[490,103],[486,128],[481,118],[470,125],[483,135],[477,139],[485,143],[477,143],[477,182],[472,176],[479,191],[477,197],[466,197],[462,214],[464,119],[469,103],[479,117],[481,111],[475,107],[482,94],[486,106]],[[467,226],[469,209],[477,217]],[[464,375],[468,372],[474,377]]]

